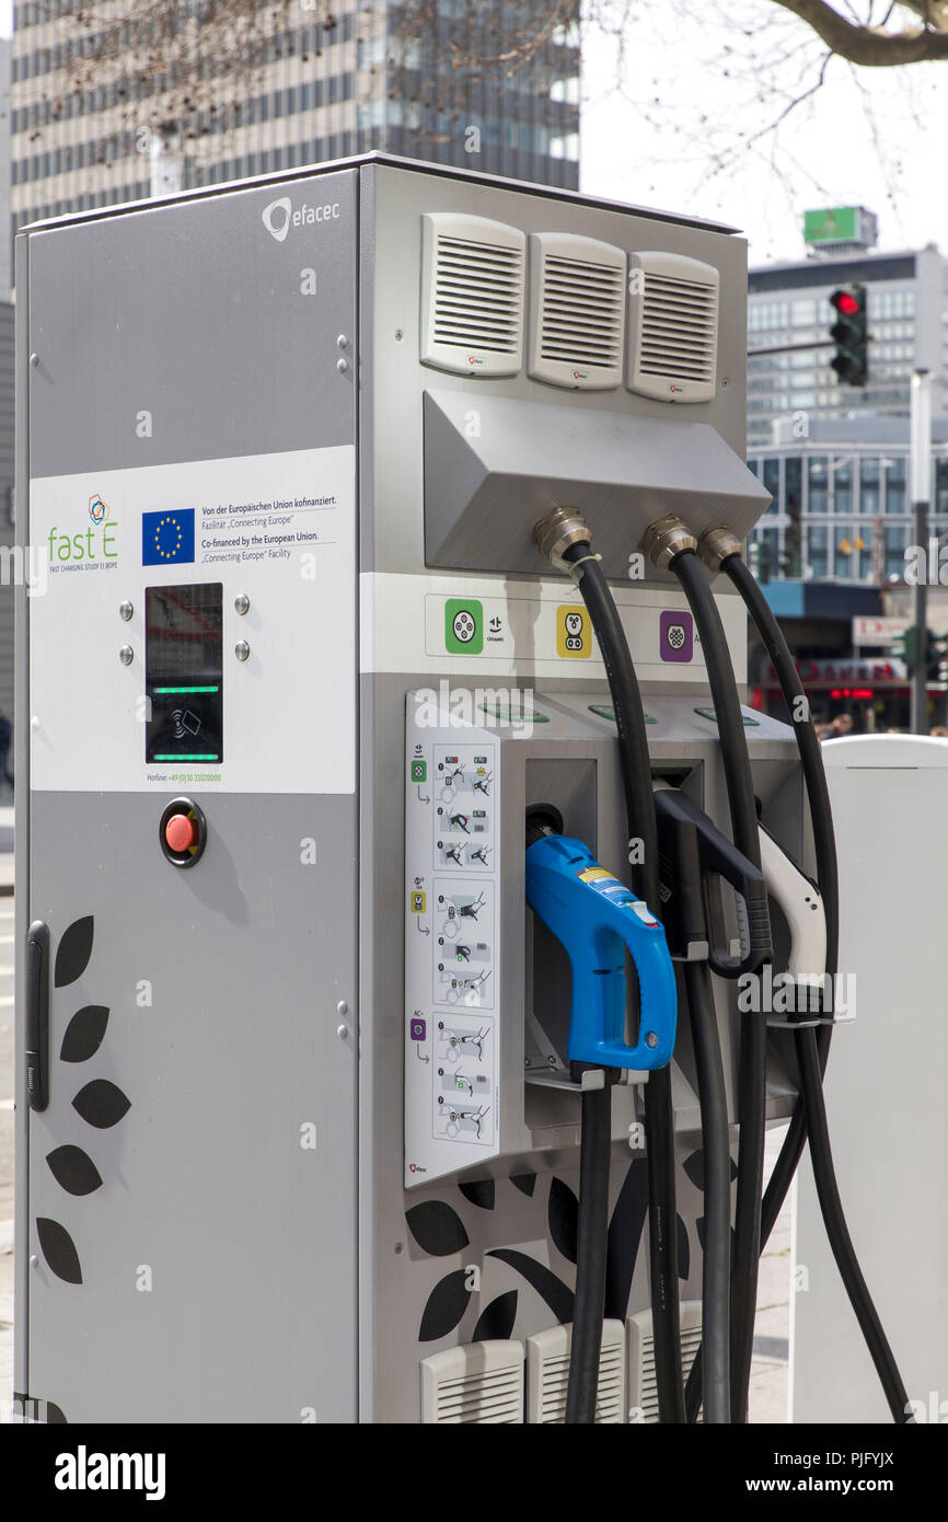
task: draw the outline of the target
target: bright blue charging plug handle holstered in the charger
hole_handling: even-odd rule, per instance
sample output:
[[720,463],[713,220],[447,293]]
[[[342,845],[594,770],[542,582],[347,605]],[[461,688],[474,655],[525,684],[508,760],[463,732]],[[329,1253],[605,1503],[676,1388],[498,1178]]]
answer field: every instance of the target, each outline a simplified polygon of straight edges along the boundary
[[[665,930],[569,836],[543,836],[526,848],[526,903],[566,948],[572,966],[571,1062],[650,1070],[674,1050],[677,991]],[[625,954],[639,979],[639,1040],[625,1033]]]

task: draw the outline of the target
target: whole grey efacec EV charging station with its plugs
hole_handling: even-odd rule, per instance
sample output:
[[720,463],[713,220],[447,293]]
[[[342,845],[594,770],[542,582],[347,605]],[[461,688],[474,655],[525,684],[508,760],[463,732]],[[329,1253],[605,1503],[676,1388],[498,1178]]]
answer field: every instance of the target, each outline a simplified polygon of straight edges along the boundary
[[746,607],[694,549],[727,565],[768,501],[744,242],[368,155],[38,225],[17,298],[49,554],[18,607],[18,1400],[563,1422],[598,1189],[596,1420],[656,1420],[676,1339],[679,1374],[714,1356],[705,1047],[727,1254],[729,1178],[799,1088],[796,1017],[736,973],[822,922],[794,732],[736,718],[761,854],[709,696]]

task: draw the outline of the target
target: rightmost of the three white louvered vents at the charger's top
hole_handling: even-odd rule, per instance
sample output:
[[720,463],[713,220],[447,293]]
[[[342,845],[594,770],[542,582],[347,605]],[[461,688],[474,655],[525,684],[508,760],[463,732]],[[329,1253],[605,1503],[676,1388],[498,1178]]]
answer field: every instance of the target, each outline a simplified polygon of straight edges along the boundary
[[717,385],[718,271],[680,254],[630,254],[628,289],[628,390],[659,402],[709,402]]

